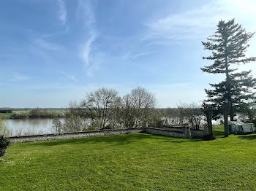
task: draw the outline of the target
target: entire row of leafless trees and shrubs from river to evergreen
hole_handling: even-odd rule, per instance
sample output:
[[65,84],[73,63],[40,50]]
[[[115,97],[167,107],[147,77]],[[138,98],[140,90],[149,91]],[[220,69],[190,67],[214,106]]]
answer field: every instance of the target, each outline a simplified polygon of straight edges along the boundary
[[143,87],[136,87],[124,96],[116,90],[100,88],[88,93],[77,104],[69,104],[69,114],[64,124],[54,120],[56,133],[94,130],[105,128],[136,128],[143,121],[151,127],[158,127],[165,118],[168,124],[189,123],[199,129],[203,120],[203,111],[198,104],[180,104],[176,109],[155,109],[156,98]]

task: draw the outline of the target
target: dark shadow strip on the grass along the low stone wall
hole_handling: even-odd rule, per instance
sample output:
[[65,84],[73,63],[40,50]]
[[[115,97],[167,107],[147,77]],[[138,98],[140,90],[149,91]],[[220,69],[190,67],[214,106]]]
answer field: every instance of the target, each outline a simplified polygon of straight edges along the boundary
[[188,139],[178,139],[169,136],[157,136],[145,133],[138,133],[138,134],[121,134],[115,136],[98,136],[98,137],[88,137],[88,138],[81,138],[81,139],[63,139],[63,140],[55,140],[55,141],[39,141],[34,143],[29,143],[28,145],[34,146],[55,146],[55,145],[63,145],[63,144],[92,144],[92,143],[105,143],[113,145],[125,145],[130,144],[132,142],[140,141],[143,139],[152,139],[152,140],[159,140],[163,142],[173,142],[173,143],[185,143],[187,141],[202,141],[199,139],[195,140],[188,140]]

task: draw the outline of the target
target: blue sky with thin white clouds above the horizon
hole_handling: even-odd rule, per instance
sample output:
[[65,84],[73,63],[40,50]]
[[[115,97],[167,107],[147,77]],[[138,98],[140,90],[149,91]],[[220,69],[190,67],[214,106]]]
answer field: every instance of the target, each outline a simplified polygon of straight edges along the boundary
[[221,19],[256,31],[255,12],[253,0],[1,1],[0,107],[64,107],[99,87],[146,87],[159,107],[202,101],[223,77],[200,71],[200,42]]

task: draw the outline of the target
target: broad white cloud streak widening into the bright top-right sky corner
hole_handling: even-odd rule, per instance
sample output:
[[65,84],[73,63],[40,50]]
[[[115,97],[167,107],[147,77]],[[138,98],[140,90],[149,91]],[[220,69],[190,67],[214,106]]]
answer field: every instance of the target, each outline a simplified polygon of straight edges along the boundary
[[240,21],[256,17],[256,2],[253,0],[214,0],[186,12],[170,14],[146,23],[148,34],[142,40],[184,40],[203,39],[212,34],[219,20],[233,17]]

